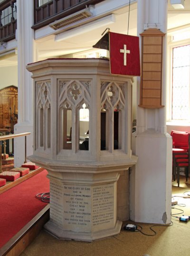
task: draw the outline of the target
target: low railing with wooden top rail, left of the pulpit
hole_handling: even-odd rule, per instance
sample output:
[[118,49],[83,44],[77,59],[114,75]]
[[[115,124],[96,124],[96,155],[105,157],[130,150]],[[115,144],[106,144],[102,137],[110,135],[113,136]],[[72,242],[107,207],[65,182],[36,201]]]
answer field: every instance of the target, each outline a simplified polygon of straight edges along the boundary
[[3,159],[6,160],[6,140],[25,136],[25,157],[24,163],[27,162],[27,135],[30,133],[18,133],[0,136],[0,173],[2,172],[2,141],[3,141]]

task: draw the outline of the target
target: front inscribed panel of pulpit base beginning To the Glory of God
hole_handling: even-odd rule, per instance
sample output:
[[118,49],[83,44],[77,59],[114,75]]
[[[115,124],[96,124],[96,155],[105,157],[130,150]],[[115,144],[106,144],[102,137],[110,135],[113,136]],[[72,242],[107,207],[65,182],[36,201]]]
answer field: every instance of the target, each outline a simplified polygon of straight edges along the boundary
[[64,185],[64,229],[89,229],[91,222],[91,187]]

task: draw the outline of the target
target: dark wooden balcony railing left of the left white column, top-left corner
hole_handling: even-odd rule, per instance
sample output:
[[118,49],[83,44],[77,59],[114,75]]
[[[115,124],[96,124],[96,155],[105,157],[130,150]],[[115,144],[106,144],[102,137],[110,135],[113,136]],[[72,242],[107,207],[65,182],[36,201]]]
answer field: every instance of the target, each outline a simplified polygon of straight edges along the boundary
[[[15,39],[15,31],[17,29],[17,19],[14,17],[14,7],[17,0],[5,0],[0,3],[0,42],[7,42],[10,40]],[[2,23],[2,13],[7,8],[11,8],[11,13],[9,14],[10,22],[9,23]],[[8,18],[8,15],[6,14]]]

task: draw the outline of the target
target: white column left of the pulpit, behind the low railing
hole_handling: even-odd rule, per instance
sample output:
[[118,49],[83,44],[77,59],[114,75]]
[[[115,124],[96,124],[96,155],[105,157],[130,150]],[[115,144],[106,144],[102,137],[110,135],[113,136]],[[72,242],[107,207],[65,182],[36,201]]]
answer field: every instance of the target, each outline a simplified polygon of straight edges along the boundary
[[[33,81],[26,65],[35,61],[34,1],[17,0],[17,41],[18,41],[18,100],[19,119],[14,133],[31,132],[27,137],[27,155],[33,153]],[[15,167],[24,163],[24,138],[14,141]]]

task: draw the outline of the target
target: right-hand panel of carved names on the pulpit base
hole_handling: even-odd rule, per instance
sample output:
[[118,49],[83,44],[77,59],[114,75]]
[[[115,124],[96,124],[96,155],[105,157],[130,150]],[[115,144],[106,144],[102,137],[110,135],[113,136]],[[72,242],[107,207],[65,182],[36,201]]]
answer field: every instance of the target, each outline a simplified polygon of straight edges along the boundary
[[93,186],[92,225],[109,225],[114,220],[114,184]]

